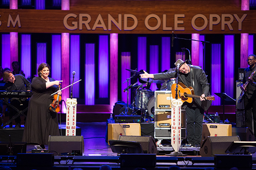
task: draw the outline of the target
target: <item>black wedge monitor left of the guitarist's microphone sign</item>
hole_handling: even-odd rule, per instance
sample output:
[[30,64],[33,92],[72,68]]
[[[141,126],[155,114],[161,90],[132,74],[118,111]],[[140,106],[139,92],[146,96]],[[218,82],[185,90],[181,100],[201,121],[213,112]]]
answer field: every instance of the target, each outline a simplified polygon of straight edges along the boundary
[[119,140],[140,142],[143,153],[157,153],[156,144],[152,136],[119,136]]

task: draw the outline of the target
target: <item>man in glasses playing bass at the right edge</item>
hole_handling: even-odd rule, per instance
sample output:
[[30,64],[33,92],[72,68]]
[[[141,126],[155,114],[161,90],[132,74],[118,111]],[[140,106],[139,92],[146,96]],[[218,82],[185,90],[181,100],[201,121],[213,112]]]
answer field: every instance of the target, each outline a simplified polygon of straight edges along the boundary
[[[256,55],[249,55],[247,63],[249,67],[243,72],[243,85],[240,87],[245,92],[243,95],[245,125],[254,129],[254,133],[256,133],[256,75],[251,77],[252,72],[256,70]],[[248,85],[245,88],[247,81]],[[254,127],[252,127],[252,121]]]

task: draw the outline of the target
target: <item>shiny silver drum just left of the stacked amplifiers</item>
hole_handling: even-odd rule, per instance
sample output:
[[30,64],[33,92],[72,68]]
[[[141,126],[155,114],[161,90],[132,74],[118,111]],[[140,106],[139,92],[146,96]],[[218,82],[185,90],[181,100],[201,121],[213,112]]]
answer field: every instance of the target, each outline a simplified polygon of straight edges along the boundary
[[154,92],[150,89],[141,89],[136,93],[135,106],[139,109],[146,110],[147,104]]

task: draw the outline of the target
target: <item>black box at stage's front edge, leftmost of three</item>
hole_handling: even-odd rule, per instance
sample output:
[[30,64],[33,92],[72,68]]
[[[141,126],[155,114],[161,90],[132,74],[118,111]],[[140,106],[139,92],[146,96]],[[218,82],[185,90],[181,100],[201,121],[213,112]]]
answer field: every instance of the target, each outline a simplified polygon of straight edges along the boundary
[[17,166],[53,166],[53,153],[18,153]]

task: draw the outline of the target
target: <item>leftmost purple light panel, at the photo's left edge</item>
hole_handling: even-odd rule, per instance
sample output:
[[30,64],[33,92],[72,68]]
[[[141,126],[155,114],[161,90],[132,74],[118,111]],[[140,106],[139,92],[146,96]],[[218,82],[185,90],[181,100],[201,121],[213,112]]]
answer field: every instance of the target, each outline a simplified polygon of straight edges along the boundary
[[2,67],[11,68],[10,34],[2,34]]

